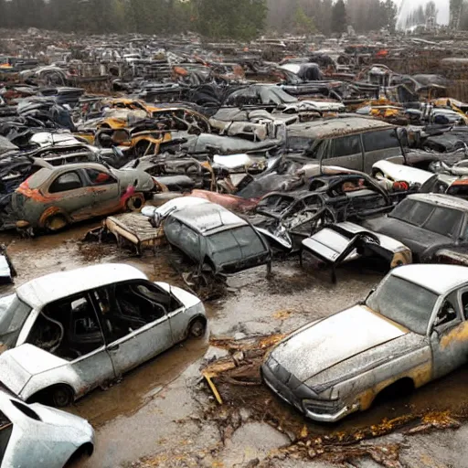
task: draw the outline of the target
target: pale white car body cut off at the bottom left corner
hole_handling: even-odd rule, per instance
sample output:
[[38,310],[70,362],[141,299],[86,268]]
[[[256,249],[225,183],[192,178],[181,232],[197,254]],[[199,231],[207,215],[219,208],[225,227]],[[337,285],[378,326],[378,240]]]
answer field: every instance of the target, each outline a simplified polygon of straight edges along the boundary
[[63,468],[94,449],[88,421],[38,403],[27,405],[0,391],[0,466]]

